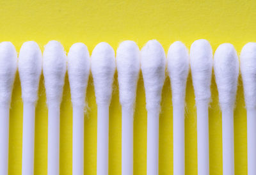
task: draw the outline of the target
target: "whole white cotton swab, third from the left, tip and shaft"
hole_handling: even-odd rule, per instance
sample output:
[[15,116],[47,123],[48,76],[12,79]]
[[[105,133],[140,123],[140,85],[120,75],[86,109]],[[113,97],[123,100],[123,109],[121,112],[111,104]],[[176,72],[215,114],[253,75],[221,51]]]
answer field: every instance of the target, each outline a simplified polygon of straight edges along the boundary
[[67,56],[60,42],[45,45],[43,73],[48,106],[48,175],[60,174],[60,103]]

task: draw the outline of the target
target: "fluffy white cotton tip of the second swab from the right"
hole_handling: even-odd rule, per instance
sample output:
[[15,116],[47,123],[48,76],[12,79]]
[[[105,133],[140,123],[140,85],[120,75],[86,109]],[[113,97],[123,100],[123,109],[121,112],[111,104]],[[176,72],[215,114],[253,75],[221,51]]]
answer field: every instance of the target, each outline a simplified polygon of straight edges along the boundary
[[239,75],[239,61],[234,46],[221,44],[214,54],[214,75],[221,108],[234,107]]

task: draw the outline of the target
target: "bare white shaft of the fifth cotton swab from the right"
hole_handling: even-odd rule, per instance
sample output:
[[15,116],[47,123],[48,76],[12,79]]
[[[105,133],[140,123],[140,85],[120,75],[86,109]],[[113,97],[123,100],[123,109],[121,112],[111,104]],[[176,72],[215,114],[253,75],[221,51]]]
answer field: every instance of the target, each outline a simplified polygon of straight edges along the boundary
[[158,174],[159,159],[159,111],[148,110],[147,115],[147,175]]

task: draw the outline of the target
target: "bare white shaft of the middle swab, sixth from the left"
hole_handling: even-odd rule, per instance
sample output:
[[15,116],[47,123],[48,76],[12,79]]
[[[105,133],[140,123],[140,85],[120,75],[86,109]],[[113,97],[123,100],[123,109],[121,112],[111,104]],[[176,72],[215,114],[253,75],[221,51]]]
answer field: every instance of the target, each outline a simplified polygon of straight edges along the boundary
[[133,174],[133,108],[122,108],[122,175]]

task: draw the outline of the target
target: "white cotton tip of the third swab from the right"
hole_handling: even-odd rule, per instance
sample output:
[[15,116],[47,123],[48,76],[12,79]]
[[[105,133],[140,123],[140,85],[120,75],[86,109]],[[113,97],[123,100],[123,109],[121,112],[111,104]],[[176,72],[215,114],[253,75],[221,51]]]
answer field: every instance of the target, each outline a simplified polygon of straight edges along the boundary
[[196,103],[211,99],[212,48],[207,40],[196,40],[190,47],[190,66]]

